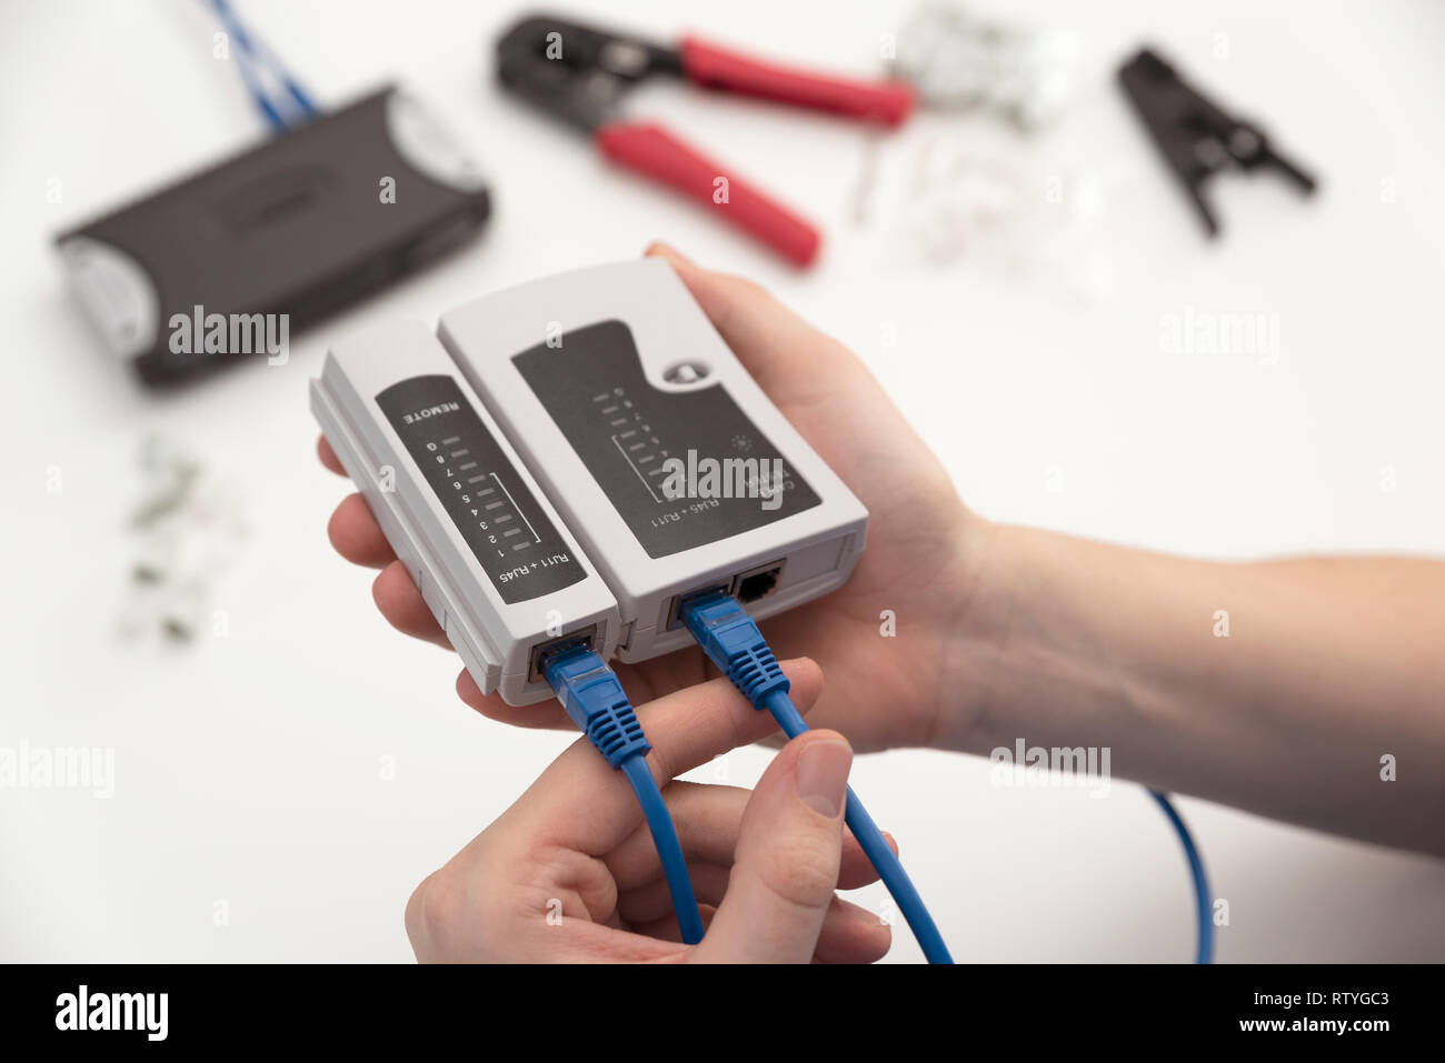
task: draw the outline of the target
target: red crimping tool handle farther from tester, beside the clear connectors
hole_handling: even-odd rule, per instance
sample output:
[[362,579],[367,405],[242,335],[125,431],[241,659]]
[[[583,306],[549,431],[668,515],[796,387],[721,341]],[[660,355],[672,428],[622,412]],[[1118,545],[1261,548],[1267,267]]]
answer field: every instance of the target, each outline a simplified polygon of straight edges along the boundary
[[902,81],[853,81],[750,59],[698,38],[678,48],[688,78],[708,88],[776,100],[819,111],[897,126],[913,110],[913,90]]

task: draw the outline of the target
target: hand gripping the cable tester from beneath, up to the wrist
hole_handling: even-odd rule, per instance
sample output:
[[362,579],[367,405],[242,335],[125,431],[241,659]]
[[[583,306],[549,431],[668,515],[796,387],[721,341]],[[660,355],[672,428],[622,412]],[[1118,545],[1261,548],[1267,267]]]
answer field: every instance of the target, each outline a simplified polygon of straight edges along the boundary
[[[967,709],[951,696],[948,669],[967,667],[961,617],[991,526],[964,507],[942,465],[842,344],[757,285],[698,269],[663,246],[649,254],[672,264],[743,365],[868,511],[886,514],[870,524],[867,549],[844,586],[763,624],[773,650],[811,654],[828,670],[829,693],[815,715],[858,750],[957,748]],[[319,452],[328,468],[342,471],[324,439]],[[394,627],[448,646],[360,495],[337,507],[329,534],[344,557],[381,569],[373,594]],[[883,635],[884,609],[896,617],[894,637]],[[696,648],[616,669],[640,699],[717,674]],[[555,702],[509,706],[499,695],[484,696],[465,672],[457,692],[494,719],[571,728]]]

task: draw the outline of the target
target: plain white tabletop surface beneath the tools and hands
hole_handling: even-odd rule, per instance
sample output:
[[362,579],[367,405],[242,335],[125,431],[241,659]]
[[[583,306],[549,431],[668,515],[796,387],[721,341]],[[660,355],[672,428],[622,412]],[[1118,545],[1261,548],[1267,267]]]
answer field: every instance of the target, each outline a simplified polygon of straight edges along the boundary
[[[458,257],[293,342],[289,365],[153,397],[98,348],[49,240],[263,129],[237,72],[212,58],[199,3],[6,4],[0,744],[114,747],[117,778],[110,800],[0,790],[0,958],[410,959],[410,890],[571,738],[475,716],[452,693],[455,659],[373,609],[370,576],[327,543],[347,488],[312,456],[305,381],[341,331],[435,319],[655,237],[762,280],[848,342],[991,517],[1201,556],[1438,555],[1445,9],[988,7],[1078,36],[1068,110],[1032,140],[988,116],[920,114],[879,144],[864,225],[851,221],[866,155],[854,124],[679,85],[636,97],[637,113],[825,228],[821,261],[798,273],[504,98],[490,42],[520,7],[246,0],[241,14],[324,103],[397,79],[438,107],[490,170],[496,217]],[[639,0],[604,17],[866,74],[907,10]],[[1259,117],[1319,173],[1321,195],[1221,179],[1224,237],[1205,241],[1111,82],[1144,40]],[[918,189],[938,153],[1013,175],[1035,231],[1082,217],[1084,235],[1056,259],[1017,231],[931,259],[939,195]],[[1051,179],[1064,204],[1046,202]],[[1277,363],[1165,352],[1160,321],[1191,306],[1277,315]],[[250,534],[214,604],[228,637],[176,648],[117,635],[149,432],[192,448],[244,508]],[[46,491],[52,467],[59,493]],[[1438,768],[1397,752],[1410,770]],[[380,778],[383,757],[394,781]],[[749,784],[767,757],[734,754],[731,781]],[[1136,787],[1107,800],[1000,790],[983,761],[931,752],[864,758],[854,784],[900,839],[957,956],[1189,955],[1185,865]],[[1445,956],[1445,865],[1182,804],[1231,906],[1221,959]],[[214,924],[218,900],[227,926]],[[890,959],[918,959],[906,929]]]

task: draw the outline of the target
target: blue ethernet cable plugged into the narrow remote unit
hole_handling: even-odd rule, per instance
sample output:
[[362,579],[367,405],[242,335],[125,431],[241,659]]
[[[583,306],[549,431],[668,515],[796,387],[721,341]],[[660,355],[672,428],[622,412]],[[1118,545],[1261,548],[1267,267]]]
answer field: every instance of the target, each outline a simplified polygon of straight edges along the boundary
[[601,657],[584,644],[561,644],[545,651],[539,661],[548,685],[562,702],[566,715],[591,739],[603,758],[620,770],[637,794],[637,804],[652,830],[653,845],[662,859],[662,871],[672,894],[672,910],[686,945],[702,940],[702,916],[692,893],[688,861],[682,855],[678,830],[672,825],[668,804],[657,789],[657,780],[647,767],[652,745],[642,732],[637,713],[623,693],[617,674]]

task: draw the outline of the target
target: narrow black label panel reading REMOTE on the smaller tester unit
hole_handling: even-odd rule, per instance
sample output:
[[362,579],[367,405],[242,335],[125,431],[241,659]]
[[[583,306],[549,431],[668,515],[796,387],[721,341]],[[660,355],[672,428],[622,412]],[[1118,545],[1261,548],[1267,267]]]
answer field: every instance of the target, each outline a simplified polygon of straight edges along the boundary
[[454,378],[410,377],[376,402],[501,601],[525,602],[587,578]]

